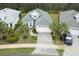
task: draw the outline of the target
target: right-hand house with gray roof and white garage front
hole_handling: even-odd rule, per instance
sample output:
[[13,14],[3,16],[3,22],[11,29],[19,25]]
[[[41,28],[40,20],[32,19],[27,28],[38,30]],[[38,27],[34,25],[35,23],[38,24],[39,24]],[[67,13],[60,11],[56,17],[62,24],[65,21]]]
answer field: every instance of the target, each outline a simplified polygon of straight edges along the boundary
[[59,13],[60,23],[66,23],[72,35],[79,36],[79,12],[68,10]]

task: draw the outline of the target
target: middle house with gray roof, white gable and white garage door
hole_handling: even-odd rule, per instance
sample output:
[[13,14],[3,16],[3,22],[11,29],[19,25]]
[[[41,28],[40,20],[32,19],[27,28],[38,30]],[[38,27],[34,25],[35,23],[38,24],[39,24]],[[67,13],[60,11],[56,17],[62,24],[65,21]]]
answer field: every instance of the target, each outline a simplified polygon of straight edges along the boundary
[[34,9],[23,18],[23,23],[29,28],[36,28],[37,32],[51,32],[49,26],[52,24],[49,14],[41,9]]

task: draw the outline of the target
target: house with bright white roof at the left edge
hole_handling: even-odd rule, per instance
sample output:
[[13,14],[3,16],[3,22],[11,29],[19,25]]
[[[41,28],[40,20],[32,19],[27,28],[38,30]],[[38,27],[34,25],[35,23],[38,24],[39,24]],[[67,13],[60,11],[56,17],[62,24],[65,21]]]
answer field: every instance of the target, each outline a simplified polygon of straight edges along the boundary
[[12,26],[12,28],[14,28],[15,24],[17,24],[19,20],[20,13],[20,11],[10,8],[2,9],[0,10],[0,21],[3,21],[9,27]]

